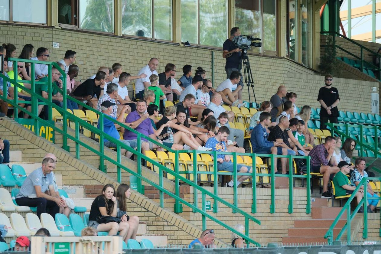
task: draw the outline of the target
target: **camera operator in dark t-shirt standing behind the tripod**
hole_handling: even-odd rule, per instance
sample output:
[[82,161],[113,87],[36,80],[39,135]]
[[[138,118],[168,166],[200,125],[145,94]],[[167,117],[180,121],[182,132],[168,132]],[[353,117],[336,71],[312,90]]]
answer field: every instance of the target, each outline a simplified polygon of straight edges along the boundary
[[[242,50],[240,50],[235,44],[232,42],[234,36],[241,35],[241,32],[239,30],[239,27],[233,27],[230,30],[230,37],[224,42],[223,45],[223,51],[222,51],[222,57],[226,58],[226,64],[225,64],[225,71],[226,71],[226,78],[230,78],[230,74],[237,70],[241,72],[242,68]],[[241,80],[237,84],[239,86],[242,86],[243,88],[243,79],[241,75]],[[242,99],[242,90],[240,89],[238,91],[238,99]]]

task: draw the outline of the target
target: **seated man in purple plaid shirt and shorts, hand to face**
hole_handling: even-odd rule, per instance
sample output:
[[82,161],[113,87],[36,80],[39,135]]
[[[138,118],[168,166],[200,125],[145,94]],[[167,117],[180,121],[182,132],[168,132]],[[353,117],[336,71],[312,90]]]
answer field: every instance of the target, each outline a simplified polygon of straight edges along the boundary
[[325,138],[324,144],[315,146],[309,156],[311,157],[311,172],[320,173],[323,175],[323,193],[322,198],[331,198],[331,193],[328,191],[328,182],[330,175],[339,172],[337,166],[331,166],[330,160],[335,151],[336,140],[332,136]]

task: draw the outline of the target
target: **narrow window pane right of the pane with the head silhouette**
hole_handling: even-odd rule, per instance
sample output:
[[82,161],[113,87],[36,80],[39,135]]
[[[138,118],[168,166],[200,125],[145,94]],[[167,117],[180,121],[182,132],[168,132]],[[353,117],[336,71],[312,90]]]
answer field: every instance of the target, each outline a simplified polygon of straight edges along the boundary
[[172,0],[154,2],[155,38],[172,40]]

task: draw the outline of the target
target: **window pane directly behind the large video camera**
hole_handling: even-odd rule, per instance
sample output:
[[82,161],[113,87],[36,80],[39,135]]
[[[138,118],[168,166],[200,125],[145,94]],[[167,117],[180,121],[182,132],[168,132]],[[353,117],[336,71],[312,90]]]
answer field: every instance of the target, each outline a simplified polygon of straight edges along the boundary
[[[235,25],[241,34],[261,38],[261,11],[259,0],[235,1]],[[261,48],[251,47],[251,52],[259,53]]]

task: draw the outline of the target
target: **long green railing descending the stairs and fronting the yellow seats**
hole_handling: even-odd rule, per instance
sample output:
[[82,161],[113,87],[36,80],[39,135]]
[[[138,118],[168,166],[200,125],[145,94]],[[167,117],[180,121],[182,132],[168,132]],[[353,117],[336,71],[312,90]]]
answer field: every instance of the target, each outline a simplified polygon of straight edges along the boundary
[[[13,58],[10,58],[9,59],[10,61],[14,61],[14,66],[17,66],[17,61],[19,59],[13,59]],[[200,187],[199,185],[197,185],[197,177],[198,177],[198,174],[204,174],[204,172],[199,172],[197,170],[197,156],[194,156],[194,165],[193,165],[193,171],[187,171],[185,173],[190,173],[190,174],[194,174],[194,181],[189,181],[189,179],[186,179],[185,177],[181,176],[182,173],[184,172],[179,172],[179,154],[180,153],[183,153],[183,152],[192,152],[194,153],[194,155],[196,155],[196,151],[174,151],[168,147],[165,147],[164,145],[162,145],[161,143],[157,142],[157,140],[153,140],[153,139],[150,139],[149,137],[141,134],[141,133],[138,133],[137,131],[135,131],[134,129],[131,129],[129,126],[123,124],[123,123],[120,123],[116,120],[114,120],[113,118],[109,117],[108,115],[104,115],[96,110],[94,110],[93,108],[89,107],[88,105],[85,105],[83,104],[82,102],[70,97],[70,96],[67,96],[66,94],[66,74],[58,67],[58,65],[54,62],[41,62],[41,61],[32,61],[32,60],[25,60],[25,59],[22,59],[22,62],[29,62],[31,64],[31,73],[34,73],[34,64],[35,63],[38,63],[38,64],[47,64],[48,65],[48,88],[49,88],[49,97],[48,99],[45,99],[43,98],[40,94],[36,94],[35,93],[35,85],[36,84],[42,84],[42,82],[37,82],[35,80],[31,80],[31,81],[25,81],[23,80],[22,83],[30,83],[31,84],[31,89],[27,89],[21,85],[19,85],[17,83],[17,81],[19,80],[16,80],[17,76],[15,75],[14,78],[11,80],[10,78],[8,77],[5,77],[4,75],[0,74],[0,77],[4,79],[4,81],[9,81],[11,83],[13,83],[15,89],[14,89],[14,99],[13,100],[10,100],[10,99],[7,99],[6,96],[0,96],[5,102],[7,103],[10,103],[11,105],[13,105],[14,107],[14,117],[17,118],[17,112],[19,110],[21,110],[22,112],[24,113],[27,113],[28,115],[30,115],[32,117],[32,119],[34,119],[34,123],[35,123],[35,134],[38,135],[38,130],[39,130],[39,126],[41,125],[46,125],[46,126],[49,126],[51,127],[54,131],[56,131],[57,133],[59,134],[62,134],[63,136],[63,148],[68,150],[69,151],[69,147],[67,145],[67,141],[68,140],[72,140],[75,142],[75,157],[77,159],[80,159],[80,146],[84,147],[85,149],[88,149],[90,150],[91,152],[93,152],[94,154],[98,155],[99,156],[99,169],[106,172],[106,168],[104,167],[104,161],[109,161],[110,163],[114,164],[117,166],[117,181],[118,182],[122,182],[122,169],[127,171],[128,173],[130,173],[132,176],[135,176],[137,179],[138,179],[138,192],[142,193],[143,192],[143,186],[142,186],[142,183],[141,181],[144,181],[146,182],[147,184],[149,185],[152,185],[154,186],[156,189],[159,190],[159,193],[160,193],[160,206],[163,208],[164,207],[164,194],[167,194],[168,196],[170,196],[171,198],[174,198],[175,200],[175,204],[174,204],[174,212],[182,212],[182,204],[192,208],[192,210],[194,212],[198,212],[202,215],[202,227],[203,229],[205,229],[207,227],[207,222],[206,222],[206,218],[212,220],[213,222],[219,224],[219,225],[222,225],[223,227],[225,227],[227,230],[230,230],[234,233],[237,233],[237,235],[240,235],[242,236],[243,238],[245,238],[247,240],[247,243],[251,243],[251,244],[255,244],[257,246],[259,246],[259,244],[252,240],[250,237],[249,237],[249,222],[250,220],[254,223],[257,223],[257,224],[260,224],[260,221],[258,219],[256,219],[255,217],[251,216],[250,214],[248,214],[247,212],[243,211],[242,209],[238,208],[238,195],[237,195],[237,186],[235,186],[233,189],[234,189],[234,204],[230,204],[229,202],[225,201],[223,198],[220,198],[218,196],[218,189],[217,189],[217,186],[218,186],[218,183],[216,182],[217,179],[218,179],[218,176],[219,175],[223,175],[223,174],[230,174],[233,176],[233,179],[234,179],[234,182],[237,181],[237,176],[240,176],[240,175],[250,175],[253,177],[253,186],[256,186],[256,176],[267,176],[267,177],[270,177],[271,178],[271,212],[275,212],[275,174],[274,174],[274,171],[272,171],[271,173],[269,174],[260,174],[260,173],[257,173],[256,170],[253,170],[252,173],[237,173],[237,172],[234,172],[234,173],[220,173],[220,172],[217,172],[216,170],[214,170],[213,172],[208,172],[206,174],[214,174],[215,176],[215,182],[214,182],[214,190],[213,190],[213,193],[209,192],[208,190],[205,190],[203,187]],[[63,107],[58,107],[56,104],[54,104],[53,102],[51,102],[51,91],[52,91],[52,88],[53,88],[53,85],[51,83],[51,68],[55,66],[59,72],[63,75],[63,86],[62,86],[62,89],[61,88],[58,88],[56,87],[56,89],[58,89],[58,91],[62,94],[63,96]],[[32,100],[31,100],[31,104],[32,104],[32,112],[28,112],[26,109],[20,107],[18,105],[18,102],[20,102],[18,100],[18,89],[16,88],[21,88],[22,90],[26,91],[27,93],[31,94],[32,95]],[[6,95],[7,94],[7,87],[6,85],[4,86],[3,88],[3,91],[4,91],[4,94]],[[40,99],[40,101],[42,102],[38,102],[38,99]],[[93,125],[87,123],[86,121],[82,120],[81,118],[73,115],[72,113],[69,113],[66,111],[66,105],[67,105],[67,102],[66,100],[69,99],[71,101],[74,101],[76,102],[78,105],[82,105],[82,107],[84,109],[87,109],[87,110],[91,110],[93,112],[96,112],[99,114],[99,126],[100,126],[100,129],[94,127]],[[24,102],[24,101],[23,101]],[[43,105],[47,105],[48,107],[48,110],[49,110],[49,120],[52,120],[52,108],[54,107],[56,110],[58,110],[59,113],[61,113],[62,117],[63,117],[63,124],[62,124],[62,129],[55,126],[54,123],[51,123],[51,121],[47,121],[47,120],[43,120],[42,118],[39,118],[37,113],[38,113],[38,105],[40,104],[43,104]],[[103,122],[104,122],[104,119],[108,119],[120,126],[122,126],[123,128],[125,128],[126,130],[129,130],[133,133],[136,134],[137,136],[137,139],[138,139],[138,148],[137,150],[134,150],[134,149],[131,149],[131,147],[127,147],[125,146],[125,144],[123,144],[120,140],[117,140],[117,139],[114,139],[113,137],[105,134],[103,132]],[[67,122],[70,121],[70,122],[74,122],[75,124],[75,135],[72,136],[70,135],[68,132],[67,132]],[[91,147],[90,145],[86,144],[85,142],[81,141],[80,140],[80,128],[85,128],[87,129],[88,131],[90,131],[91,133],[95,134],[95,135],[99,135],[99,150],[98,149],[94,149],[94,147]],[[149,157],[146,157],[145,155],[142,155],[142,153],[140,153],[140,150],[141,150],[141,140],[142,138],[145,138],[151,142],[153,142],[154,144],[158,145],[159,147],[163,147],[165,148],[166,150],[168,150],[169,152],[173,152],[175,154],[175,160],[174,160],[174,171],[171,170],[171,169],[168,169],[166,168],[165,166],[161,165],[160,163],[158,163],[157,161],[155,160],[152,160],[151,158]],[[116,150],[117,150],[117,160],[114,160],[112,158],[109,158],[107,157],[106,155],[104,155],[104,139],[107,139],[113,143],[116,144]],[[121,155],[120,155],[120,150],[121,149],[125,149],[125,150],[128,150],[129,152],[133,153],[137,160],[137,170],[136,172],[127,168],[126,166],[123,166],[122,163],[121,163]],[[217,154],[228,154],[228,155],[232,155],[233,156],[233,160],[234,160],[234,168],[236,168],[237,166],[237,156],[239,155],[249,155],[252,157],[253,159],[253,165],[255,165],[255,157],[258,156],[258,154],[256,155],[255,153],[254,154],[239,154],[239,153],[223,153],[223,152],[198,152],[197,153],[208,153],[210,155],[213,155],[214,157],[214,168],[216,169],[217,168],[217,160],[216,160],[216,156]],[[274,165],[274,160],[275,158],[279,158],[279,157],[285,157],[283,155],[260,155],[260,156],[263,156],[263,157],[270,157],[271,159],[271,165]],[[311,193],[311,186],[310,186],[310,180],[311,180],[311,176],[309,174],[309,157],[291,157],[291,156],[288,156],[289,158],[289,161],[290,161],[290,169],[292,169],[292,159],[293,158],[306,158],[307,159],[307,175],[304,175],[304,176],[301,176],[301,175],[296,175],[296,174],[293,174],[293,170],[290,170],[290,173],[288,175],[277,175],[277,177],[288,177],[289,178],[289,185],[290,185],[290,203],[289,203],[289,207],[288,207],[288,211],[291,213],[293,212],[293,181],[295,181],[296,178],[305,178],[307,179],[307,205],[306,205],[306,212],[307,213],[310,213],[311,212],[311,196],[310,196],[310,193]],[[150,181],[149,179],[146,179],[145,177],[143,177],[141,175],[141,166],[142,166],[142,160],[146,160],[147,162],[149,163],[152,163],[152,165],[154,165],[155,167],[158,168],[158,184],[153,182],[153,181]],[[173,192],[170,192],[169,190],[165,189],[163,187],[163,181],[164,181],[164,177],[163,177],[163,173],[166,173],[167,175],[170,174],[174,177],[174,189],[175,189],[175,193]],[[184,182],[190,186],[192,186],[194,188],[194,197],[195,197],[195,200],[194,200],[194,203],[191,204],[185,200],[183,200],[182,198],[180,198],[180,191],[179,191],[179,182]],[[257,196],[256,196],[256,188],[252,188],[253,189],[253,205],[252,205],[252,212],[255,213],[256,212],[256,200],[257,200]],[[197,194],[200,193],[202,195],[202,208],[200,209],[198,207],[198,203],[197,203]],[[233,212],[236,212],[236,213],[239,213],[241,214],[243,217],[245,217],[245,235],[243,235],[242,233],[239,233],[237,232],[236,230],[234,230],[232,227],[230,227],[229,225],[227,225],[226,223],[218,220],[215,218],[215,216],[212,216],[211,214],[209,214],[207,211],[206,211],[206,208],[205,208],[205,199],[206,197],[209,197],[213,200],[213,203],[214,203],[214,206],[213,206],[213,212],[218,212],[218,209],[217,209],[217,204],[218,202],[231,208]]]

